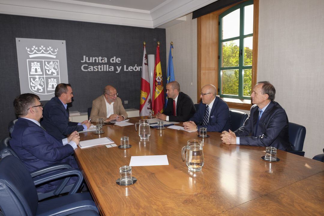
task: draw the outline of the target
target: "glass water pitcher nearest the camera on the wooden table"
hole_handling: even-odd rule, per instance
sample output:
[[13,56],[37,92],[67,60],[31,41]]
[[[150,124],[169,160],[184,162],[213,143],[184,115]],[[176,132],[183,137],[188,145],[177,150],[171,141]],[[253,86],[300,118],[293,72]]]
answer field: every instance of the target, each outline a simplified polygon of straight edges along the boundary
[[182,148],[182,160],[186,161],[189,171],[201,171],[204,165],[202,141],[188,140],[187,146]]

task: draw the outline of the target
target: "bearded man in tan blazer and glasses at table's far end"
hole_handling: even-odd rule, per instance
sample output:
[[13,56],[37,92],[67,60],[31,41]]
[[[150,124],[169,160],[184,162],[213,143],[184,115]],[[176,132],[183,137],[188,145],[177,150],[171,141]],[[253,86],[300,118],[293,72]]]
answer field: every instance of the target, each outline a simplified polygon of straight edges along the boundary
[[117,96],[117,90],[113,86],[107,85],[103,90],[103,95],[92,101],[91,122],[98,122],[99,118],[104,118],[106,122],[127,119],[121,99]]

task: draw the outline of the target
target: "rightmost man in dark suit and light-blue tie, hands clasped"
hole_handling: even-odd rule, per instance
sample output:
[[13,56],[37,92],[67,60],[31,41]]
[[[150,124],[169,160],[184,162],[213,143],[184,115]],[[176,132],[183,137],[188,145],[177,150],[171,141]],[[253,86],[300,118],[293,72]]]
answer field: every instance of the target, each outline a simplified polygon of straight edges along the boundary
[[258,82],[251,94],[249,118],[236,131],[223,131],[221,139],[226,144],[272,146],[290,151],[288,117],[277,102],[273,101],[276,90],[267,81]]

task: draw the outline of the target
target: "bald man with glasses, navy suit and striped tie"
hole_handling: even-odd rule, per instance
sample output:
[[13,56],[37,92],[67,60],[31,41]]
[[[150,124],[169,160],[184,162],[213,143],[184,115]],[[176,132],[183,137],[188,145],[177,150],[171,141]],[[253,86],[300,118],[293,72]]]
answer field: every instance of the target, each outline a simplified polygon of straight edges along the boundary
[[216,96],[216,92],[214,85],[203,86],[200,93],[202,102],[194,116],[183,123],[185,130],[199,131],[201,127],[207,128],[207,131],[229,130],[231,127],[229,108],[225,101]]

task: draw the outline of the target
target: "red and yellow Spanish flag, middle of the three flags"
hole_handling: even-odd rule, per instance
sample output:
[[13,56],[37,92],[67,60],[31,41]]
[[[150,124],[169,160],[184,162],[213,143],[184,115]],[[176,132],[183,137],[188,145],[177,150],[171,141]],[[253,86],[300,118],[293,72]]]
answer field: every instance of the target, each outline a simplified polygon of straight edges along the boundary
[[162,69],[161,69],[161,61],[160,61],[160,42],[157,42],[156,47],[156,58],[155,58],[155,67],[153,74],[153,103],[152,109],[154,114],[158,112],[163,112],[164,106],[164,90],[163,90],[163,80],[162,80]]

